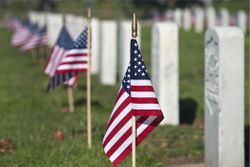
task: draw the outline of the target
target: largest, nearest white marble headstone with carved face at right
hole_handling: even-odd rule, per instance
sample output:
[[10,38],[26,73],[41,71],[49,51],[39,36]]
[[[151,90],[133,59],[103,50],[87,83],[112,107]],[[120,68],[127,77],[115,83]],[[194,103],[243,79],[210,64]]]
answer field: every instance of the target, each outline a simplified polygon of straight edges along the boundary
[[213,27],[206,32],[206,167],[244,167],[243,40],[236,27]]

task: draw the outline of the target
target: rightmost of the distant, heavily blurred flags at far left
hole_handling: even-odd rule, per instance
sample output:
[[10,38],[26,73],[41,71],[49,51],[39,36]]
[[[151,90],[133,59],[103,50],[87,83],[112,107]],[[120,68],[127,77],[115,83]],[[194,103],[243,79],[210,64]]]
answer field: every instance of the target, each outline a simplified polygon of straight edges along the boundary
[[38,28],[31,32],[27,42],[22,46],[21,50],[27,51],[39,46],[46,45],[48,41],[46,27]]

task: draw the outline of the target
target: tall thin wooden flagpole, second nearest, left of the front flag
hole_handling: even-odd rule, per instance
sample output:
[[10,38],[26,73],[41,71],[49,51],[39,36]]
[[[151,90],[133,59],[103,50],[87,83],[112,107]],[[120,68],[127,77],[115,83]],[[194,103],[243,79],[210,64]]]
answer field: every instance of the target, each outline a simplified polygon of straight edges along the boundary
[[87,130],[88,147],[91,148],[91,9],[88,8],[88,69],[87,69]]

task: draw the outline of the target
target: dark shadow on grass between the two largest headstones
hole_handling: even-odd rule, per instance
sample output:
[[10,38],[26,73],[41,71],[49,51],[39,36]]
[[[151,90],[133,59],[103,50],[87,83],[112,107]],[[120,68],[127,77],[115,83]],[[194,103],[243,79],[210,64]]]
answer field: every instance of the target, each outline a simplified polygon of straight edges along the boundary
[[197,102],[192,98],[180,99],[180,124],[193,124],[196,117]]

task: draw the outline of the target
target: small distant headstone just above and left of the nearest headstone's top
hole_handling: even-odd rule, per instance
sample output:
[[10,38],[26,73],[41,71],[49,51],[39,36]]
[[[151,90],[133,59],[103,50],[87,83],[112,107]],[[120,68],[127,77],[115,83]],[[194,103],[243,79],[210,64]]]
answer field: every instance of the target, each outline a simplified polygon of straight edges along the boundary
[[204,29],[204,11],[201,8],[195,8],[195,31],[201,33]]

